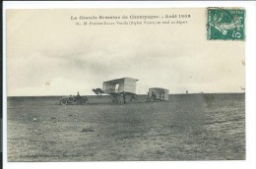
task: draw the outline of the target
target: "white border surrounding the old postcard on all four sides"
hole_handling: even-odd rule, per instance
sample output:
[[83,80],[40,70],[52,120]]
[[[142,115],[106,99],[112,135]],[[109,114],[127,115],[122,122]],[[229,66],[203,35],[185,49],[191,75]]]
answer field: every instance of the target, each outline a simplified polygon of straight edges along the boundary
[[[7,162],[7,112],[6,84],[3,83],[3,165],[8,169],[44,168],[196,168],[196,169],[255,169],[256,168],[256,2],[237,1],[12,1],[3,2],[3,82],[6,82],[6,10],[7,9],[82,9],[82,8],[196,8],[196,7],[244,7],[246,9],[246,160],[242,161],[168,161],[168,162]],[[249,24],[248,24],[249,23]]]

